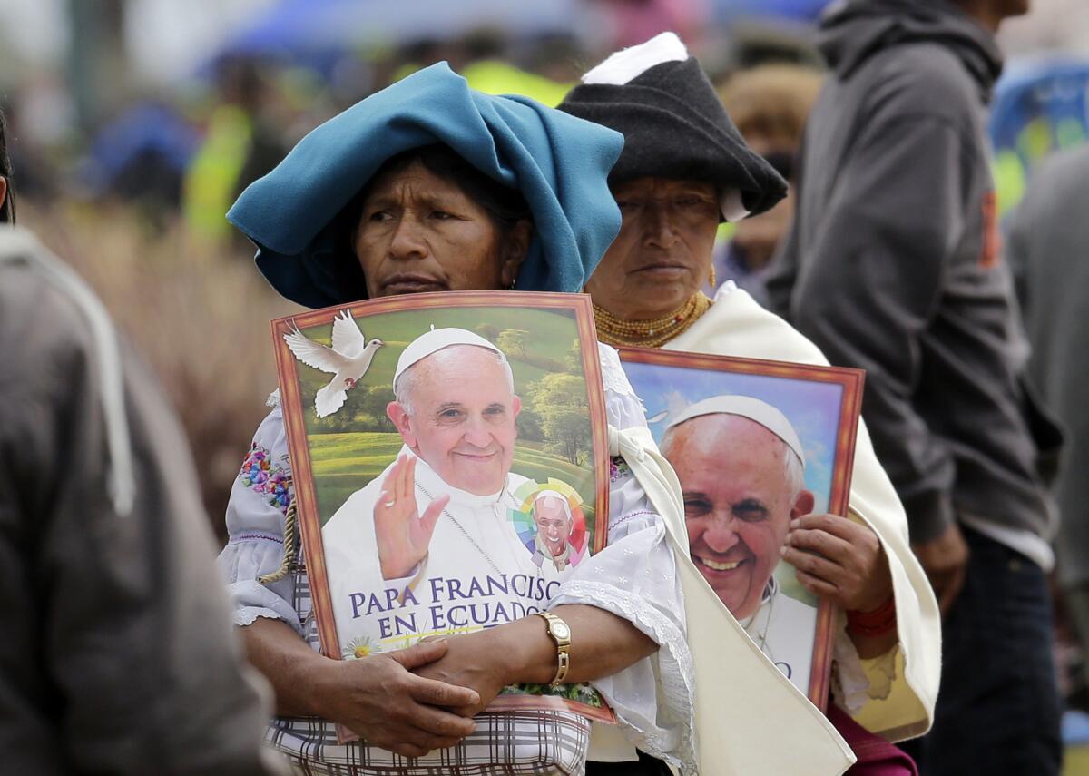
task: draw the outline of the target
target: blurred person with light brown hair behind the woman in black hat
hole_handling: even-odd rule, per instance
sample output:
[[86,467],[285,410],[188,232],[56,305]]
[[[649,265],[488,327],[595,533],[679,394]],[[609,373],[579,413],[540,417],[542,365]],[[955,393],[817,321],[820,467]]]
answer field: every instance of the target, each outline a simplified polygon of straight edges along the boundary
[[714,246],[711,295],[719,284],[733,280],[761,305],[768,266],[794,216],[794,159],[802,145],[806,117],[820,92],[821,75],[812,68],[763,64],[735,73],[719,89],[726,113],[756,154],[788,184],[786,196],[764,213],[734,226],[729,240]]

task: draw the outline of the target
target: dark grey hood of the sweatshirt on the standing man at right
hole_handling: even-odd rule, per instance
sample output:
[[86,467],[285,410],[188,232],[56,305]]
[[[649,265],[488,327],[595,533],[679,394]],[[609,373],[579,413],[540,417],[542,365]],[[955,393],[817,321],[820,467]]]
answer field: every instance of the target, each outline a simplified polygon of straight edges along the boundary
[[817,45],[829,66],[847,78],[869,57],[904,44],[940,43],[990,95],[1002,72],[994,36],[949,0],[840,0],[821,16]]

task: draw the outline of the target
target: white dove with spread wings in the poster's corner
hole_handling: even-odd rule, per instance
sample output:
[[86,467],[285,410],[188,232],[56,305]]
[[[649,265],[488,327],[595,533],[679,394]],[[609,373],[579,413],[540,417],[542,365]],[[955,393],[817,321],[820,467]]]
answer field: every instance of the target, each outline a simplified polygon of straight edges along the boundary
[[284,335],[283,339],[295,357],[304,364],[333,373],[329,385],[314,398],[318,417],[331,415],[343,407],[347,391],[355,388],[355,384],[367,374],[375,353],[384,344],[377,337],[366,342],[363,331],[346,310],[333,318],[331,348],[309,339],[297,327]]

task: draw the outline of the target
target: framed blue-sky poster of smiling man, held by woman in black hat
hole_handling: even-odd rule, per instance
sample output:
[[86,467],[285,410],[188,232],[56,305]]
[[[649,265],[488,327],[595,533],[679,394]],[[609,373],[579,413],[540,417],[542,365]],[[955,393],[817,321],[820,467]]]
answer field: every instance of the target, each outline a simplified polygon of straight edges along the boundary
[[864,373],[620,353],[681,482],[693,562],[760,651],[824,708],[836,613],[781,553],[792,520],[847,516]]

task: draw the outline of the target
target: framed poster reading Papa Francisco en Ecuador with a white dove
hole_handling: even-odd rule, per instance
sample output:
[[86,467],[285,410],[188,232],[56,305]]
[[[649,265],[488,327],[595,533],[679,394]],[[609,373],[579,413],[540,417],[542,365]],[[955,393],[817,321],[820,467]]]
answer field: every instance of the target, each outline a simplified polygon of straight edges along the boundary
[[[278,318],[272,334],[326,655],[531,615],[604,546],[588,296],[392,296]],[[555,705],[612,720],[589,686],[511,687],[490,708]]]

